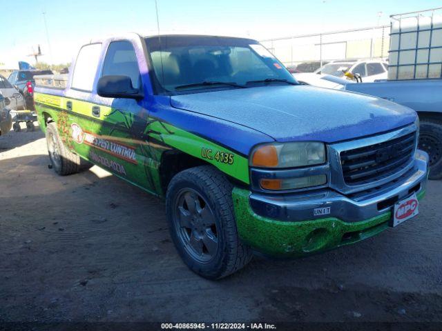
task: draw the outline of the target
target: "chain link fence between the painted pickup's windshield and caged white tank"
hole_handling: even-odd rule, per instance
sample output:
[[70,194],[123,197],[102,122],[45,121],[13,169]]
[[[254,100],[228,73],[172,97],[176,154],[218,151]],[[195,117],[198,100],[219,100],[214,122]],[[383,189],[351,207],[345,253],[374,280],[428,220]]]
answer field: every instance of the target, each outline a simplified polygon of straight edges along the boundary
[[387,58],[389,34],[390,26],[376,26],[266,39],[261,43],[285,66],[294,66],[310,61]]

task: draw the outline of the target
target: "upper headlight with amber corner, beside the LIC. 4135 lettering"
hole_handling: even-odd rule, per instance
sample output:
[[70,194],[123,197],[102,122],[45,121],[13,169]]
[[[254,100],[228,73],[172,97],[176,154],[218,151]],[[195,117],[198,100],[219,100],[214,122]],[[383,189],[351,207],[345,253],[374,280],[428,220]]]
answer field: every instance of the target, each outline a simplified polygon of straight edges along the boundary
[[257,146],[250,165],[258,168],[296,168],[325,163],[325,145],[316,141]]

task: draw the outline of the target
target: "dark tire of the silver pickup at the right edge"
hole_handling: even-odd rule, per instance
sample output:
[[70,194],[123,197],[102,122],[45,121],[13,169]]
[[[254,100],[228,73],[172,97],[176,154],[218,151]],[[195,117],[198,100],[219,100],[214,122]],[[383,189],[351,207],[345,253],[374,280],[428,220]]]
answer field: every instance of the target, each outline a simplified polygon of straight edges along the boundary
[[430,156],[429,179],[442,179],[442,121],[423,117],[421,119],[419,148]]

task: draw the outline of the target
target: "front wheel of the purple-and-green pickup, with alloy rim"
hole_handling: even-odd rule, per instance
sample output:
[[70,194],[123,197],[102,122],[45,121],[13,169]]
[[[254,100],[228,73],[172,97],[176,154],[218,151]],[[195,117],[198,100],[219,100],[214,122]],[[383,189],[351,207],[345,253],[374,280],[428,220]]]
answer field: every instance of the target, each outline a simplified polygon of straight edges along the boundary
[[166,213],[175,248],[184,263],[206,279],[220,279],[251,261],[238,238],[233,185],[211,165],[184,170],[166,193]]

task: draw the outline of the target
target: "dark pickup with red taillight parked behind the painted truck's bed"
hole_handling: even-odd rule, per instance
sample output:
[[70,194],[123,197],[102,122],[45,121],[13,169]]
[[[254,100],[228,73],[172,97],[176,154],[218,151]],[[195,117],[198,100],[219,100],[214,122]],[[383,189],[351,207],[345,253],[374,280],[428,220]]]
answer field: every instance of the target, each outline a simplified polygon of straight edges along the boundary
[[27,110],[35,110],[34,108],[34,76],[39,74],[52,74],[51,70],[15,70],[9,77],[8,81],[12,86],[17,88],[23,95]]

